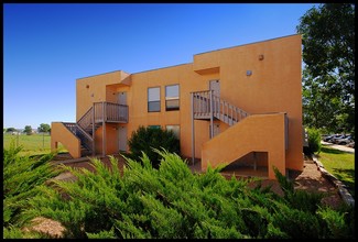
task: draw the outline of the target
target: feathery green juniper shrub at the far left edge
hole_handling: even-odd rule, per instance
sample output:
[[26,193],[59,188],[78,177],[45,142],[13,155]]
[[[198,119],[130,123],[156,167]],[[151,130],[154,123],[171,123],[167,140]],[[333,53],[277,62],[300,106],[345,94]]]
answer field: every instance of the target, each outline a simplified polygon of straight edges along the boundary
[[37,157],[20,156],[21,148],[12,142],[10,148],[3,150],[4,238],[14,238],[21,233],[19,228],[31,219],[24,217],[28,200],[40,194],[40,185],[61,173],[50,164],[54,153]]

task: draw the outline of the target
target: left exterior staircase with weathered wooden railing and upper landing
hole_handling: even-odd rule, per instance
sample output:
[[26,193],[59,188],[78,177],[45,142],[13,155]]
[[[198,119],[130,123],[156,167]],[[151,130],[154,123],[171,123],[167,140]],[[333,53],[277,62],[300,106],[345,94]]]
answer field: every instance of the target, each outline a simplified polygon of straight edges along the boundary
[[[95,155],[95,133],[106,122],[127,123],[128,106],[95,102],[76,123],[63,124],[80,141],[80,155]],[[65,144],[64,144],[65,145]]]

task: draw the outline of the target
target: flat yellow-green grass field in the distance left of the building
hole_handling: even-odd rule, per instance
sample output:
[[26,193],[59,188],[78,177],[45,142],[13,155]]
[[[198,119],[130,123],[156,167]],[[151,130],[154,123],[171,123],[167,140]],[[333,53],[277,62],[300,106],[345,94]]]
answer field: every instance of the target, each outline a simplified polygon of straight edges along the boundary
[[[22,151],[19,155],[39,155],[51,152],[51,136],[50,134],[21,134],[12,135],[4,133],[3,134],[3,148],[9,148],[11,142],[15,146],[22,146]],[[59,151],[65,152],[65,147],[59,145]]]

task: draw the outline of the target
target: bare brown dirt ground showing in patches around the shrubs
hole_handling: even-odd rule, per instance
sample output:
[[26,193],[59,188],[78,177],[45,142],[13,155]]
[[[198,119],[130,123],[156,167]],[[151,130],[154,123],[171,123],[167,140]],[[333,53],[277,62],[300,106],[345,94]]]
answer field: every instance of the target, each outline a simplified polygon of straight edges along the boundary
[[[118,156],[117,156],[118,157]],[[118,157],[118,166],[122,169],[124,165],[124,160],[122,157]],[[101,160],[106,165],[110,166],[109,158],[102,158]],[[89,162],[78,162],[78,163],[66,163],[66,166],[72,167],[84,167],[91,172],[94,172],[94,167],[89,164]],[[196,170],[198,164],[195,164],[196,167],[192,166],[192,170]],[[326,178],[324,178],[317,168],[317,165],[310,160],[304,161],[304,169],[302,173],[292,174],[292,179],[295,182],[295,189],[303,189],[308,190],[313,193],[325,193],[328,196],[326,196],[323,199],[324,204],[327,204],[332,207],[337,207],[343,202],[343,199],[340,198],[337,188]],[[74,179],[72,174],[65,173],[57,177],[57,179]],[[275,180],[264,180],[262,183],[263,186],[271,185],[272,189],[278,193],[282,194],[282,190]],[[33,230],[41,231],[44,233],[48,233],[55,238],[61,238],[62,233],[64,231],[64,228],[61,226],[61,223],[45,219],[45,218],[36,218],[35,219],[36,224],[32,228]]]

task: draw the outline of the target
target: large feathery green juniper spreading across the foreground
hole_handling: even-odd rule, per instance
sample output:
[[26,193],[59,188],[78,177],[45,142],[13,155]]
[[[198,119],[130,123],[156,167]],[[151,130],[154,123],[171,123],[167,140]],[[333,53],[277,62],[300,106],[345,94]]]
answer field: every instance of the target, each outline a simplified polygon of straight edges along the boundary
[[218,168],[193,174],[177,154],[155,152],[158,169],[145,154],[141,163],[127,157],[122,174],[112,156],[111,167],[91,160],[96,173],[64,167],[77,182],[41,186],[26,213],[61,222],[74,239],[354,238],[354,215],[299,206],[295,198],[306,197],[290,182],[280,197],[260,183],[249,188],[253,179],[227,180]]

